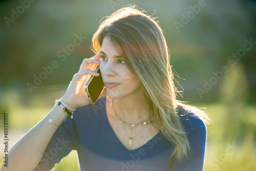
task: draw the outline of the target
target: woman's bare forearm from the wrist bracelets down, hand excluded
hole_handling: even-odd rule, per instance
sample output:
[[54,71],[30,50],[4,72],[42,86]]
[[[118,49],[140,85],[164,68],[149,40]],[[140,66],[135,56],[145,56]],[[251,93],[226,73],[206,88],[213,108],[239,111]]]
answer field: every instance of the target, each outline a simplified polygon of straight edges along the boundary
[[[53,123],[60,125],[68,116],[59,105],[55,105],[49,113]],[[45,149],[50,142],[57,126],[50,123],[46,115],[32,129],[17,141],[8,153],[8,167],[2,166],[2,170],[33,170],[39,163]],[[4,163],[3,163],[4,164]]]

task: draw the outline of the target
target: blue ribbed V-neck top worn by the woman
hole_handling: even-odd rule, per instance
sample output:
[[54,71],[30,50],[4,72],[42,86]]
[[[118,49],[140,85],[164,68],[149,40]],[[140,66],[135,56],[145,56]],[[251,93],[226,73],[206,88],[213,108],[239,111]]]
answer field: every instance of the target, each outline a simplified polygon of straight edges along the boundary
[[130,151],[112,130],[105,110],[106,96],[95,104],[77,108],[73,118],[67,117],[51,138],[44,155],[34,170],[51,170],[55,163],[77,151],[80,170],[203,170],[207,130],[199,118],[183,110],[179,115],[191,151],[178,162],[173,153],[175,144],[160,132],[141,147]]

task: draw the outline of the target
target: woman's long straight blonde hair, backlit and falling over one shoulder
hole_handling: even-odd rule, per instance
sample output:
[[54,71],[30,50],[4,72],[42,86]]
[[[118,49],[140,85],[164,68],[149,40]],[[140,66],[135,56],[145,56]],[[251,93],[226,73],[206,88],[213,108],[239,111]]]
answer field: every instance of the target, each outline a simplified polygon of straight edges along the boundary
[[170,157],[175,155],[181,160],[190,148],[177,107],[193,112],[207,123],[210,119],[195,106],[176,99],[178,91],[174,86],[169,50],[162,29],[154,17],[144,12],[132,6],[106,16],[93,35],[91,49],[99,53],[103,38],[110,38],[127,67],[140,80],[159,129],[176,145]]

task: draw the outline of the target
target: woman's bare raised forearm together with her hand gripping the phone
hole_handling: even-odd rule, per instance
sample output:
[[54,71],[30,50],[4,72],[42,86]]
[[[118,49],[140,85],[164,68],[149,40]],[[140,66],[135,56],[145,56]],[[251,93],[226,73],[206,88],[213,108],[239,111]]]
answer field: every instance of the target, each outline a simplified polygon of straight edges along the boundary
[[[78,73],[73,76],[66,94],[61,98],[69,108],[76,109],[80,106],[90,104],[84,86],[90,75],[99,76],[94,71],[94,64],[100,65],[101,56],[99,54],[90,59],[83,59]],[[88,75],[88,76],[86,76]],[[85,77],[86,76],[86,77]],[[105,96],[105,91],[101,93],[101,97]],[[55,105],[49,113],[53,123],[60,125],[68,114],[59,106]],[[33,170],[41,160],[47,145],[49,144],[53,134],[57,130],[57,126],[50,123],[48,116],[38,122],[22,139],[10,149],[8,153],[8,167],[4,164],[0,171],[3,170]]]

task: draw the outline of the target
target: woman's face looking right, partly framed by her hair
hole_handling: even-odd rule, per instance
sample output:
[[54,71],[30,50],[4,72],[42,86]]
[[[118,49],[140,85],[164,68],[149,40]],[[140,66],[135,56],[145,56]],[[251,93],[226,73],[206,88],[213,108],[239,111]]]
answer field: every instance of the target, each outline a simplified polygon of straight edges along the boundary
[[[110,98],[136,95],[140,90],[140,84],[127,68],[124,58],[118,55],[108,37],[104,37],[99,55],[101,56],[100,72],[105,84],[106,95]],[[117,84],[111,85],[107,82]]]

